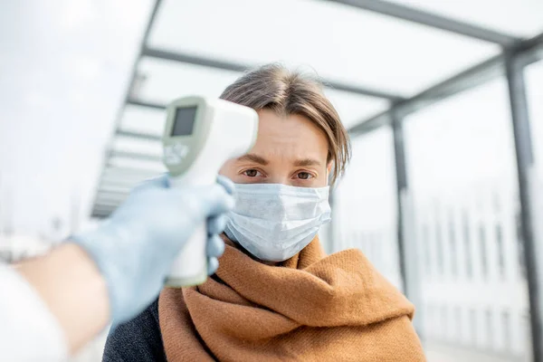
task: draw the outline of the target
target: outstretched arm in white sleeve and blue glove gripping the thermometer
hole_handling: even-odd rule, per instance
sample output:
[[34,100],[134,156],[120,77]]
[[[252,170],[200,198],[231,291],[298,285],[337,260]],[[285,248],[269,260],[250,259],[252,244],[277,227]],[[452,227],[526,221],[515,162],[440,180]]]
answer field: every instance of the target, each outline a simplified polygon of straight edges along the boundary
[[[73,235],[71,243],[16,269],[0,265],[0,283],[13,297],[0,299],[0,317],[10,317],[0,319],[0,342],[15,342],[0,346],[0,357],[7,350],[13,357],[7,360],[62,360],[109,321],[134,318],[157,299],[177,253],[206,220],[208,272],[214,272],[224,251],[218,233],[233,206],[232,183],[219,184],[180,190],[169,188],[166,176],[150,180],[98,229]],[[24,329],[33,329],[29,343]]]

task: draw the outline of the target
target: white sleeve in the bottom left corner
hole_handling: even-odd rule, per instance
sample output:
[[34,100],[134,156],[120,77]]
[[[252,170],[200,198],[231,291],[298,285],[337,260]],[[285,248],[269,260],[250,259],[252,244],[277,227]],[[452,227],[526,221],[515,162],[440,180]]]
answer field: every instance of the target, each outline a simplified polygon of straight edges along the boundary
[[66,338],[45,302],[17,271],[0,263],[0,361],[67,359]]

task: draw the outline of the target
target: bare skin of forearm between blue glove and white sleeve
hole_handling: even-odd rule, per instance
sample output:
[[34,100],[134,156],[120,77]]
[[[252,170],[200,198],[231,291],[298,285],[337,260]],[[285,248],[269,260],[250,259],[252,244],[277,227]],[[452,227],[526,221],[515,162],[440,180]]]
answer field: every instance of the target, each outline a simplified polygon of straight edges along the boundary
[[20,263],[17,271],[55,316],[71,353],[108,325],[106,282],[81,246],[62,244],[43,257]]

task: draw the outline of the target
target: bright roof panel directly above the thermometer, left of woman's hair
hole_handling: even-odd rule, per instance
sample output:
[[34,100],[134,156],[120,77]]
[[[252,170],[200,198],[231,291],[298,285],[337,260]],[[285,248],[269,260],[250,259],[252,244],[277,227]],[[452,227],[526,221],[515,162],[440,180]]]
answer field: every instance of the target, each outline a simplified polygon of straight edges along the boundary
[[178,97],[199,94],[217,98],[241,73],[144,57],[138,65],[143,81],[139,100],[168,103]]

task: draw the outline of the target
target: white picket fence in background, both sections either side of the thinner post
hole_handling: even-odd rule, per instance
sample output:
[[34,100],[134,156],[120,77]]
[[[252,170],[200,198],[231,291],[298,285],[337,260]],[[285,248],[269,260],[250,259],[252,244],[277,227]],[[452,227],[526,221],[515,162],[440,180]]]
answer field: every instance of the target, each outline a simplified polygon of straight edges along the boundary
[[[358,248],[396,286],[395,209],[339,194],[331,249]],[[501,357],[529,351],[528,289],[518,233],[517,186],[485,180],[436,195],[414,195],[417,262],[428,340]]]

